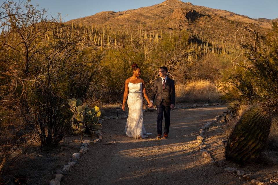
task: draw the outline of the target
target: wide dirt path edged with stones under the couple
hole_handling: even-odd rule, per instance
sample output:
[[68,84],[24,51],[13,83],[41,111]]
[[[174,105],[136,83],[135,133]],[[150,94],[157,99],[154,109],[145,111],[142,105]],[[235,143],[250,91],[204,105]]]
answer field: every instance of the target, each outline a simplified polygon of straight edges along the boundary
[[156,140],[156,112],[144,113],[149,138],[124,134],[126,119],[103,123],[103,140],[87,152],[61,184],[243,184],[202,158],[199,128],[226,110],[210,106],[172,110],[169,139]]

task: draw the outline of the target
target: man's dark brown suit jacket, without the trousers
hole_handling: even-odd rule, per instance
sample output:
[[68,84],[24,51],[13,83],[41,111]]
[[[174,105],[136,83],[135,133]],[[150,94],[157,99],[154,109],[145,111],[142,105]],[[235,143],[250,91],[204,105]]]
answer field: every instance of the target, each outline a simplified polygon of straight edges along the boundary
[[153,91],[151,93],[151,100],[154,101],[156,96],[156,105],[160,105],[162,100],[166,106],[170,106],[171,104],[175,105],[175,82],[171,78],[167,76],[167,80],[165,83],[165,89],[163,90],[162,79],[159,77],[156,79],[153,85]]

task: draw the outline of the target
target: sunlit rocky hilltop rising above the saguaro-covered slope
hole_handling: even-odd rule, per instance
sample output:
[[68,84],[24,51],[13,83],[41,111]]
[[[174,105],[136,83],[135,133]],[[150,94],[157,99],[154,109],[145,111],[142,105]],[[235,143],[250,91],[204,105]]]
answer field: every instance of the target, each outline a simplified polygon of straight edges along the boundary
[[[140,27],[146,37],[156,35],[155,33],[176,33],[179,30],[186,30],[190,33],[191,40],[198,44],[231,49],[235,44],[235,32],[238,29],[252,24],[255,30],[264,34],[270,31],[272,21],[278,19],[253,19],[226,10],[196,6],[190,2],[166,0],[160,4],[134,10],[99,12],[92,16],[70,20],[65,24],[72,28],[98,28],[99,38],[101,38],[100,32],[105,32],[104,29],[101,30],[104,27],[113,29],[113,32],[128,30],[129,33],[134,32],[134,34],[138,34]],[[94,29],[91,31],[90,35],[94,37]]]

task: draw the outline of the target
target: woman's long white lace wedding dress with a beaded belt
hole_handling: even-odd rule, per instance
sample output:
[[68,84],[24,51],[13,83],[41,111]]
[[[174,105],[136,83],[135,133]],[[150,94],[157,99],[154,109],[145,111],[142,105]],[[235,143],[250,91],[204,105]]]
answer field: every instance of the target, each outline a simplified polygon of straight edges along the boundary
[[143,97],[142,97],[142,82],[128,84],[128,117],[125,125],[125,134],[133,138],[145,138],[151,133],[146,132],[143,125]]

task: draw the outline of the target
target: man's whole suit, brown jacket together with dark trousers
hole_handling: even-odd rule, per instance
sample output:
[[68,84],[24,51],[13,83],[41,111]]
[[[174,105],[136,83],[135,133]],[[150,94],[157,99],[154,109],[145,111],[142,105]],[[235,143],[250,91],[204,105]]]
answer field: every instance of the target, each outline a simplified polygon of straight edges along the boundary
[[170,106],[175,105],[175,82],[171,78],[167,77],[165,88],[162,86],[162,79],[159,77],[156,79],[151,100],[154,101],[156,97],[156,108],[157,108],[157,134],[162,134],[162,119],[163,114],[165,118],[164,133],[169,133],[170,127]]

